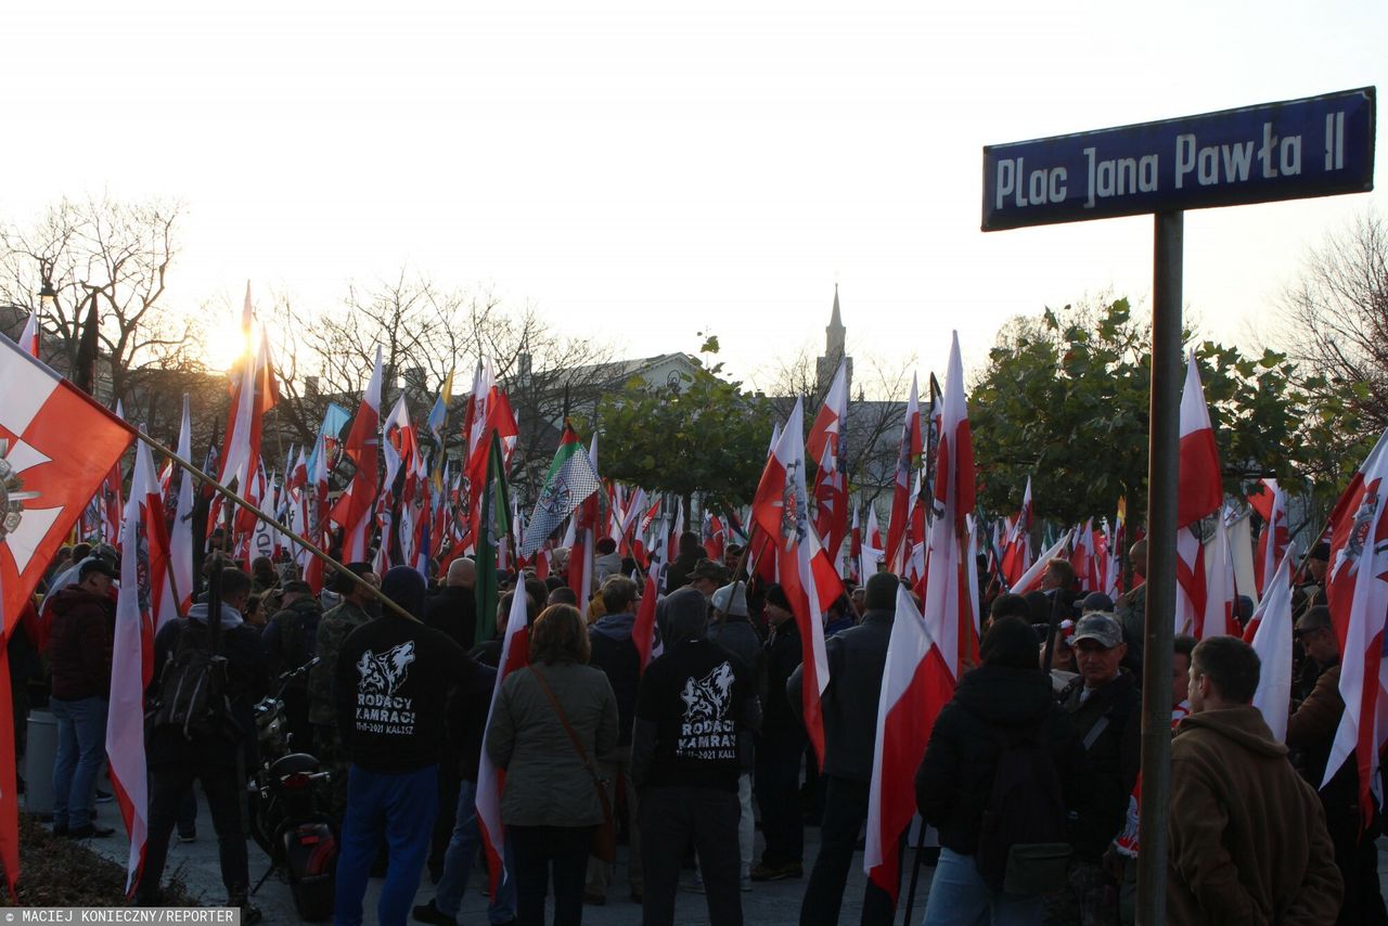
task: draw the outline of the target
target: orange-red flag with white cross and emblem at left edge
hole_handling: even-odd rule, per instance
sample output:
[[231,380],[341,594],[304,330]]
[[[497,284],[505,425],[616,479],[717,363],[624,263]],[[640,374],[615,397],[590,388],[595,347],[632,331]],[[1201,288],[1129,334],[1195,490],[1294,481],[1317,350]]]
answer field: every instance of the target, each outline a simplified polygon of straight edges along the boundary
[[4,632],[135,440],[124,421],[0,339],[0,589]]

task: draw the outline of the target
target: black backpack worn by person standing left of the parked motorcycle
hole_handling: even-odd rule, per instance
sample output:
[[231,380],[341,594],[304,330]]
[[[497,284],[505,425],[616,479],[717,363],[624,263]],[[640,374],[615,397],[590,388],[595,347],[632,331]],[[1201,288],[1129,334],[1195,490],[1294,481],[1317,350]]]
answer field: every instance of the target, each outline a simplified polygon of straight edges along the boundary
[[150,726],[172,729],[192,740],[219,733],[230,721],[226,698],[226,657],[212,653],[205,626],[189,621],[174,641],[160,675]]

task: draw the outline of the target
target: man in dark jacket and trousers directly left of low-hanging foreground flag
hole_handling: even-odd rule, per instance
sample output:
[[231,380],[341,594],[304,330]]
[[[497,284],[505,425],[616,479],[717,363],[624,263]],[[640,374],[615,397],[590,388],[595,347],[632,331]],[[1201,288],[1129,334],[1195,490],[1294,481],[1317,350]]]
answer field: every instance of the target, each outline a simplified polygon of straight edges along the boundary
[[[862,622],[824,641],[829,658],[829,686],[820,696],[824,715],[824,819],[819,829],[819,855],[799,908],[801,923],[831,926],[838,922],[854,847],[867,819],[877,700],[899,584],[890,572],[867,579]],[[797,668],[787,686],[791,708],[797,712],[801,687],[801,668]],[[891,897],[869,880],[862,922],[890,925],[895,912]]]

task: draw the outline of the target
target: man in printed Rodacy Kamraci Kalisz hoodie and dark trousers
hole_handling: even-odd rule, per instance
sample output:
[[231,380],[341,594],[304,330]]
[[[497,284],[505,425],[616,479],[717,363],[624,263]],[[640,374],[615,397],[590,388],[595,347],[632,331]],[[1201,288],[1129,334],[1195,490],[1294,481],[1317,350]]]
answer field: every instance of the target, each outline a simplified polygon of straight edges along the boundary
[[665,608],[669,636],[641,676],[632,743],[632,777],[641,795],[643,923],[675,922],[680,855],[693,839],[709,922],[741,926],[738,732],[755,729],[761,711],[747,669],[704,637],[704,596],[680,589]]

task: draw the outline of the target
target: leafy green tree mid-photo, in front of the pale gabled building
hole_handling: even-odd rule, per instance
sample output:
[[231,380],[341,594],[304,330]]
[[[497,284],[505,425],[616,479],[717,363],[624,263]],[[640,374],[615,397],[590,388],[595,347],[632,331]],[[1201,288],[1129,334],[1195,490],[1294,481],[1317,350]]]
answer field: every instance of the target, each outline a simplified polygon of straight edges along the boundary
[[[718,353],[718,337],[701,348]],[[647,386],[633,378],[598,403],[602,475],[650,491],[701,493],[706,505],[733,508],[751,501],[766,465],[772,414],[765,398],[705,367],[680,386]],[[586,422],[582,432],[591,430]]]

